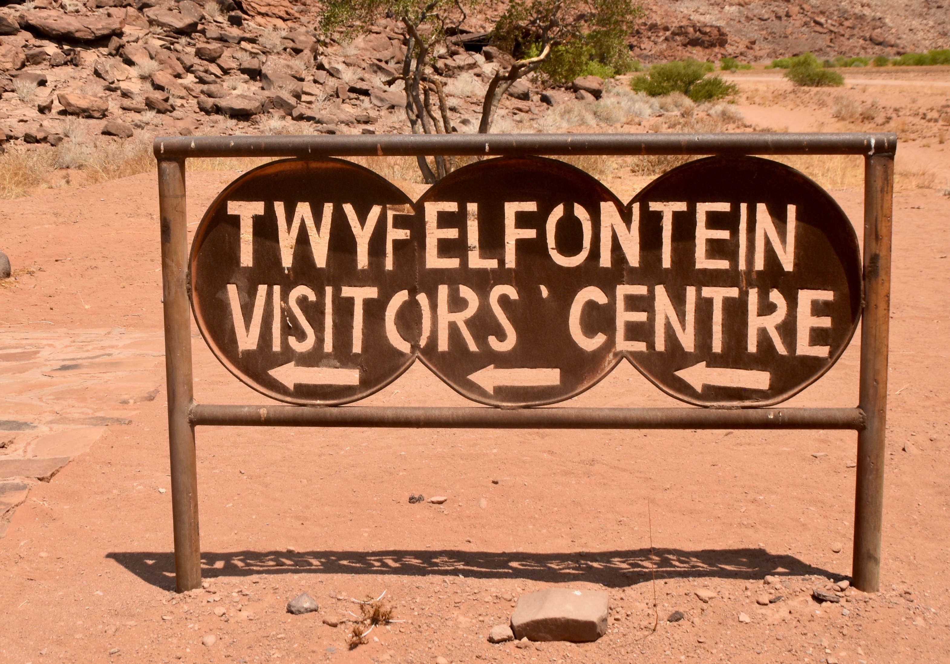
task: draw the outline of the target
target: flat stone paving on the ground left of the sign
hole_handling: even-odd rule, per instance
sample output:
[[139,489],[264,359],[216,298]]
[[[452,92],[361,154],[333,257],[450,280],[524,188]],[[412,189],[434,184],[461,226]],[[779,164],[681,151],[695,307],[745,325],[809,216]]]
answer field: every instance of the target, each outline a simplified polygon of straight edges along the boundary
[[161,332],[0,331],[0,538],[35,482],[159,394]]

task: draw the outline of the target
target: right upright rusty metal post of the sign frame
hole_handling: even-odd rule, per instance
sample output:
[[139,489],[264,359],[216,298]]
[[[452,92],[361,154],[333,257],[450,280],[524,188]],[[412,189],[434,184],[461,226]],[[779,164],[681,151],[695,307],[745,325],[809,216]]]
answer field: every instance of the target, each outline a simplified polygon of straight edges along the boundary
[[861,321],[859,405],[867,420],[864,430],[858,433],[851,568],[854,586],[865,593],[876,593],[881,587],[893,196],[894,155],[865,157],[864,315]]

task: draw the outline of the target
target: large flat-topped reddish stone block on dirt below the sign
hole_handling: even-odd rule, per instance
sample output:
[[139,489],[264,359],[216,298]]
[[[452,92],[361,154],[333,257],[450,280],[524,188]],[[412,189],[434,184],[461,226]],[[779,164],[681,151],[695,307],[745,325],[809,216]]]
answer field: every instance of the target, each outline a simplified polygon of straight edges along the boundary
[[596,641],[607,632],[603,591],[548,588],[518,598],[511,616],[515,637],[531,641]]

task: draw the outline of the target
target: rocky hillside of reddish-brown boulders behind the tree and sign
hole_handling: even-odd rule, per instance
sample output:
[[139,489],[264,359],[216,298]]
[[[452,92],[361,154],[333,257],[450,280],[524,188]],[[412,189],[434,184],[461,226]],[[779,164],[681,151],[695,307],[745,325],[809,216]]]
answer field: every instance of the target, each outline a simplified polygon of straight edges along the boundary
[[[0,7],[0,151],[10,142],[71,140],[79,156],[57,166],[69,168],[100,149],[104,139],[92,137],[102,135],[122,142],[156,134],[408,130],[396,80],[405,46],[394,21],[381,20],[352,42],[321,44],[315,4],[202,1],[28,0]],[[805,50],[894,55],[946,46],[943,1],[653,0],[628,41],[648,63],[684,55],[750,62]],[[477,126],[485,84],[508,58],[483,49],[479,37],[502,11],[501,2],[480,6],[466,23],[474,39],[451,42],[438,54],[457,131]],[[538,82],[520,82],[500,107],[495,130],[573,126],[570,112],[553,123],[548,110],[575,94],[598,98],[600,83],[589,84],[544,91]],[[623,106],[620,114],[635,119],[664,112],[642,100],[618,104],[599,112]]]

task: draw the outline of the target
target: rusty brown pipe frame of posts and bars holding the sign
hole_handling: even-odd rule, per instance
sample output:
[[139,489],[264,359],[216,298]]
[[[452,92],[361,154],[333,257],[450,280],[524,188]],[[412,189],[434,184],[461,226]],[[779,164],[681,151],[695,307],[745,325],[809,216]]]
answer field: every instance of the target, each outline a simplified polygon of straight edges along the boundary
[[[176,137],[155,140],[175,573],[201,584],[195,427],[784,428],[858,432],[853,584],[881,577],[895,134],[468,134]],[[185,160],[418,155],[861,155],[864,312],[857,408],[389,408],[196,404],[187,291]]]

